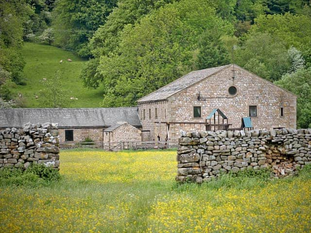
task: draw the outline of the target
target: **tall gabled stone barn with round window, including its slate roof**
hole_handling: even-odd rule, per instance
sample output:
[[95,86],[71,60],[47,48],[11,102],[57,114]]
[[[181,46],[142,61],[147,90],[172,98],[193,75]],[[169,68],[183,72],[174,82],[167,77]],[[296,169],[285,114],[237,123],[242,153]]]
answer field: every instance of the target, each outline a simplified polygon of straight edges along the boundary
[[192,71],[139,99],[142,139],[176,141],[180,130],[206,130],[213,111],[213,123],[225,116],[226,129],[241,128],[242,117],[258,129],[296,128],[293,93],[230,64]]

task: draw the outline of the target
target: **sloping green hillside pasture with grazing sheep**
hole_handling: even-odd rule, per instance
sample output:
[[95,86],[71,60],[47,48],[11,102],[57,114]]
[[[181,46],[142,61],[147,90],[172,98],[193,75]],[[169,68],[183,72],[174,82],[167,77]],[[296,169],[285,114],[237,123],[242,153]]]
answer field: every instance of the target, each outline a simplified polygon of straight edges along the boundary
[[[97,90],[88,89],[83,87],[83,83],[79,79],[81,68],[86,62],[85,60],[73,55],[69,51],[36,43],[24,43],[22,53],[26,61],[24,80],[27,85],[17,86],[16,91],[22,93],[25,99],[25,107],[44,107],[39,105],[35,96],[38,94],[38,90],[42,89],[40,81],[43,78],[49,79],[54,76],[56,70],[63,72],[63,88],[70,93],[70,96],[78,99],[70,101],[70,107],[100,107],[103,100],[102,88],[100,87]],[[68,58],[72,62],[68,62]],[[62,64],[59,63],[60,60],[63,60]]]

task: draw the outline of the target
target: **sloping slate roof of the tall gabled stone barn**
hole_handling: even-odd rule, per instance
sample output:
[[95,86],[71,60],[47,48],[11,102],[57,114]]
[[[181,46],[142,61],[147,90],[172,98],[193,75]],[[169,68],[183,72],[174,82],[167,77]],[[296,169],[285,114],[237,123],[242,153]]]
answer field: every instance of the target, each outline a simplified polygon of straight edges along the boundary
[[176,94],[177,92],[229,66],[231,66],[231,64],[221,67],[212,67],[208,69],[192,71],[182,76],[181,78],[176,79],[172,83],[169,83],[166,86],[163,86],[160,89],[150,93],[149,95],[140,98],[137,102],[139,103],[146,101],[166,100],[167,98]]

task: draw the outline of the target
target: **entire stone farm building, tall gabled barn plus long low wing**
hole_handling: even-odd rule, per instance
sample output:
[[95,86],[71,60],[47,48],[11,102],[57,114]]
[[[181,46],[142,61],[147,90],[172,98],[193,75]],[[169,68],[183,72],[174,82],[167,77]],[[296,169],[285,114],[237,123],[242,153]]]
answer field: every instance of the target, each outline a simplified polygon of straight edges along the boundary
[[[296,96],[234,65],[192,71],[138,100],[137,107],[0,109],[0,129],[56,122],[60,143],[176,142],[180,131],[296,128]],[[245,125],[246,126],[246,125]]]

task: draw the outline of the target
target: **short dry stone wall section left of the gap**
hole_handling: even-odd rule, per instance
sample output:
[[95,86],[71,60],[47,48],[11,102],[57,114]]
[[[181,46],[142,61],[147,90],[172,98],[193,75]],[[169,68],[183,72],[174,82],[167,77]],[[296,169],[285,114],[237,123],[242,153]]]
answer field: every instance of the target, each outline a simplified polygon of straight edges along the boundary
[[59,169],[57,124],[30,124],[22,130],[7,128],[0,132],[0,168],[22,167],[32,163]]

